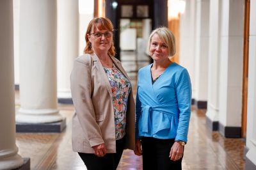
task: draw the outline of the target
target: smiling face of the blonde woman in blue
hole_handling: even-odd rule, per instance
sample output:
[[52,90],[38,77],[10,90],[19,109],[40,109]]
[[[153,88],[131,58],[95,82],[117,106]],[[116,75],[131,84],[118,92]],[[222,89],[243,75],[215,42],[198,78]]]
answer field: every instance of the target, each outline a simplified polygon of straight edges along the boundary
[[159,38],[157,34],[154,34],[151,38],[149,52],[154,61],[164,61],[168,59],[168,46]]

